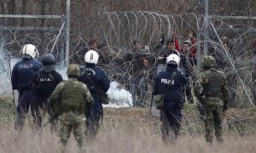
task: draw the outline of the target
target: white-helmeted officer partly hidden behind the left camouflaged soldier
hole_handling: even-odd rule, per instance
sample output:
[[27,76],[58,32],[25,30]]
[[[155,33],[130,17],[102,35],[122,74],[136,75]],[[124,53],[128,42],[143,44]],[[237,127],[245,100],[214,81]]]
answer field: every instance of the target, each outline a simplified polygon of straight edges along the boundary
[[90,89],[90,94],[94,99],[94,104],[90,110],[86,112],[86,131],[85,136],[92,140],[96,138],[96,133],[100,127],[100,120],[102,119],[102,99],[100,99],[100,93],[107,93],[110,87],[110,81],[108,76],[102,71],[101,68],[97,67],[96,64],[99,59],[99,54],[95,50],[89,50],[84,55],[85,65],[80,67],[81,76],[79,77],[80,82],[84,82]]

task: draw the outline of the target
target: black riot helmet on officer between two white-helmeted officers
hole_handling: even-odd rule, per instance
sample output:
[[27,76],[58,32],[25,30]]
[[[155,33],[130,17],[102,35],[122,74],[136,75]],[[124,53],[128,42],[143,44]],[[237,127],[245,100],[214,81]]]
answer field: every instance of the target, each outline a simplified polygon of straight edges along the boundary
[[44,54],[42,58],[43,71],[54,71],[56,68],[56,59],[53,54]]

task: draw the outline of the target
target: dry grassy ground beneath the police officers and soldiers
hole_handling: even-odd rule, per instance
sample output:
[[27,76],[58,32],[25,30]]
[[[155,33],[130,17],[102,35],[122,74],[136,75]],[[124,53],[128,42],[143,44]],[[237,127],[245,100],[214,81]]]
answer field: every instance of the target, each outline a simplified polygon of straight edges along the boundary
[[[49,127],[38,134],[31,124],[31,116],[26,119],[22,133],[15,132],[13,125],[15,111],[12,104],[0,103],[0,152],[59,152],[58,137],[49,132]],[[228,130],[231,119],[251,117],[253,122],[243,122],[247,130],[243,137],[236,128]],[[203,125],[194,105],[186,105],[183,111],[183,128],[176,144],[164,144],[160,135],[160,120],[150,116],[149,108],[104,108],[102,128],[96,140],[87,144],[88,152],[253,152],[256,149],[254,128],[255,110],[231,109],[224,121],[224,144],[209,146],[203,137]],[[44,121],[46,122],[46,121]],[[77,152],[76,141],[72,138],[67,152]]]

